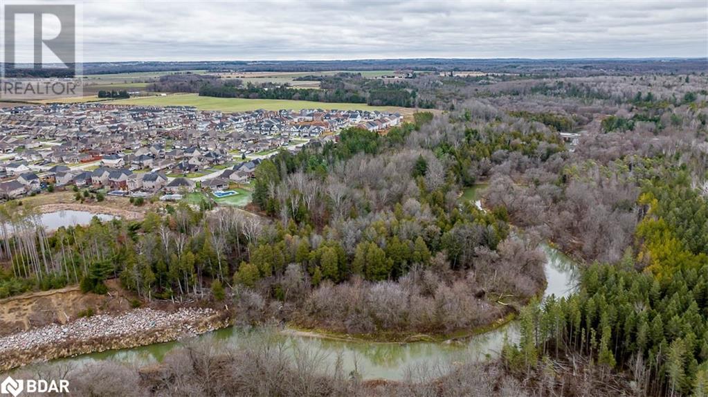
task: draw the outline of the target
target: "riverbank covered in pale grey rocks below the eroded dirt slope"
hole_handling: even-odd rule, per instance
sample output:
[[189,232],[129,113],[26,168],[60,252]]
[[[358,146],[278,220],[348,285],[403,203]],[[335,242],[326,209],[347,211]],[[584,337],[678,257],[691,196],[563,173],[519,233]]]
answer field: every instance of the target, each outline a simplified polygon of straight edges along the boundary
[[170,342],[229,324],[227,313],[197,308],[173,312],[133,309],[79,318],[0,338],[0,371],[61,357]]

